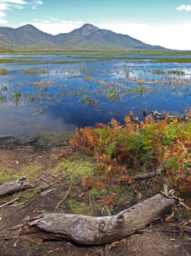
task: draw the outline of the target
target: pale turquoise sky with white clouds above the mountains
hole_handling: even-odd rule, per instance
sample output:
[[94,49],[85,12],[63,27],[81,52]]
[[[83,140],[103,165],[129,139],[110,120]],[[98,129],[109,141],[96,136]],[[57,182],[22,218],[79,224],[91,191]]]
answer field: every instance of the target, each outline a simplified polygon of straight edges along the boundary
[[0,25],[58,34],[84,23],[152,45],[191,50],[191,0],[0,0]]

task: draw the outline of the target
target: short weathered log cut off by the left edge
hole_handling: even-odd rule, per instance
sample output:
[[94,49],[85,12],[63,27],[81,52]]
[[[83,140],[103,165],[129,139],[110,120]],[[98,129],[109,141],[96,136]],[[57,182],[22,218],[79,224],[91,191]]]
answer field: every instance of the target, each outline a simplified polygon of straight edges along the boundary
[[29,183],[26,183],[26,176],[17,179],[17,180],[13,180],[10,182],[5,182],[3,184],[0,185],[0,196],[4,196],[4,195],[8,195],[8,194],[12,194],[15,193],[17,191],[20,191],[22,189],[26,189],[30,186]]

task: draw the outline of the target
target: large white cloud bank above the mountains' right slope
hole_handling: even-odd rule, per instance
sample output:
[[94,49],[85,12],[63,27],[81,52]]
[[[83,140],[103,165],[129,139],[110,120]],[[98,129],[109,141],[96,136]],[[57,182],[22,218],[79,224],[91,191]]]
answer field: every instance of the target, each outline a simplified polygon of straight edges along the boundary
[[191,22],[174,25],[109,24],[97,25],[116,33],[128,34],[146,44],[160,45],[170,49],[191,50]]

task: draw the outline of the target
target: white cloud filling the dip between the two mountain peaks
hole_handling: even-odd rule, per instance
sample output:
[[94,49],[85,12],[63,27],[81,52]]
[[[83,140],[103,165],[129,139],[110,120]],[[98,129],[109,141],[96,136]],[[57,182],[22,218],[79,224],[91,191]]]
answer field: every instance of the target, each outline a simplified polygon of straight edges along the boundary
[[[28,23],[21,23],[20,25],[26,25]],[[30,23],[33,26],[35,26],[37,29],[42,30],[43,32],[49,33],[49,34],[59,34],[59,33],[68,33],[74,29],[78,29],[81,27],[84,22],[70,22],[70,23],[42,23],[42,22],[35,22]]]

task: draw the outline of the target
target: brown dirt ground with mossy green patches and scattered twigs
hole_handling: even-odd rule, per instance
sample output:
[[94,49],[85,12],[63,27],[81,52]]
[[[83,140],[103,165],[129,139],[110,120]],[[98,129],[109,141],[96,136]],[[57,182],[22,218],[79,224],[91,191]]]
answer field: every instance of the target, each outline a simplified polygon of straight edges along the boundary
[[[22,227],[8,231],[9,228],[22,224],[27,216],[35,217],[52,212],[63,198],[63,193],[68,191],[70,175],[73,178],[73,186],[58,212],[89,215],[92,210],[94,216],[107,215],[99,200],[115,193],[116,202],[108,207],[112,214],[116,214],[140,200],[138,197],[133,197],[134,191],[141,194],[142,200],[160,192],[160,187],[153,186],[148,180],[147,184],[136,184],[134,191],[125,186],[84,191],[82,180],[90,172],[95,171],[96,163],[83,152],[70,148],[68,144],[70,136],[71,134],[65,137],[63,134],[62,136],[25,134],[17,138],[0,138],[0,184],[27,175],[28,182],[34,186],[31,191],[26,189],[0,197],[0,205],[15,198],[19,198],[17,203],[22,203],[9,204],[0,209],[0,255],[191,256],[191,223],[186,224],[187,232],[182,228],[191,219],[190,211],[180,207],[174,209],[175,217],[170,222],[165,219],[172,212],[138,233],[106,246],[82,247],[67,241],[40,241],[38,238],[34,241],[30,237],[23,240],[19,239],[19,235],[22,235]],[[65,155],[58,157],[63,150]],[[39,196],[35,188],[53,182],[55,183],[53,191],[45,196]],[[89,195],[93,209],[90,209]],[[24,208],[21,209],[22,207]],[[107,251],[108,246],[110,249]]]

